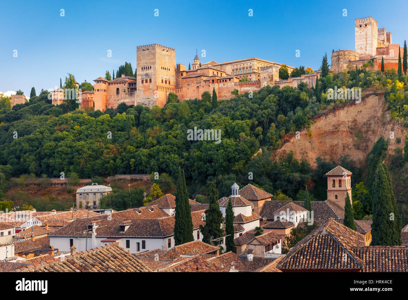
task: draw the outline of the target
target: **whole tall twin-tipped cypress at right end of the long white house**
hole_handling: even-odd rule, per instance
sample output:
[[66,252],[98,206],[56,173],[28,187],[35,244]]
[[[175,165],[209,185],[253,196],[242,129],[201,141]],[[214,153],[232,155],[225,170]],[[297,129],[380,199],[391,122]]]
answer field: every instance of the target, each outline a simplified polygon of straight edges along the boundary
[[177,180],[177,194],[175,198],[175,223],[174,223],[174,244],[180,245],[191,242],[193,238],[193,220],[191,219],[191,207],[188,202],[186,181],[184,171],[179,167]]

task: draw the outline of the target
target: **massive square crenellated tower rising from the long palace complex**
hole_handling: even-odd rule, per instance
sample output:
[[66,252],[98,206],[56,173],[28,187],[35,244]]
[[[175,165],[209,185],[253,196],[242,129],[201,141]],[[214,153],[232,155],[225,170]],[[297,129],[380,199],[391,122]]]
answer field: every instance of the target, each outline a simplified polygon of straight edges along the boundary
[[136,104],[164,107],[175,92],[175,49],[159,44],[136,47]]

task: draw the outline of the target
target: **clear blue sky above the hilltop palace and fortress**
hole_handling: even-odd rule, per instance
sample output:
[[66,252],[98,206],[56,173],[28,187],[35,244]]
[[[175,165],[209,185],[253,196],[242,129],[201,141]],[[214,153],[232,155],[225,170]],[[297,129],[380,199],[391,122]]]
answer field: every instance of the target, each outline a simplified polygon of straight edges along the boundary
[[402,45],[408,39],[407,3],[3,0],[0,91],[21,89],[29,96],[35,87],[38,94],[59,87],[67,73],[80,83],[93,84],[93,79],[104,77],[106,70],[116,72],[125,61],[134,71],[136,46],[153,43],[175,48],[176,63],[187,66],[196,49],[199,56],[205,49],[202,63],[257,57],[315,70],[325,52],[330,61],[332,49],[355,49],[355,18],[373,16],[379,28],[392,32],[393,43]]

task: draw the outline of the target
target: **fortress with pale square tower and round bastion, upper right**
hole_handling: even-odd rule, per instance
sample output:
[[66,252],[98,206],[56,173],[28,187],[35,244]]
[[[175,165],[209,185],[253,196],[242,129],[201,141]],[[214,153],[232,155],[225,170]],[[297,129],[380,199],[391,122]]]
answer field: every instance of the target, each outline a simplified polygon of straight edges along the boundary
[[[384,57],[384,67],[398,69],[398,52],[403,47],[392,44],[392,33],[385,28],[378,28],[373,17],[354,20],[355,51],[333,51],[330,71],[339,73],[344,70],[361,67],[366,62],[372,62],[368,70],[381,70],[381,59]],[[402,54],[401,54],[402,55]]]

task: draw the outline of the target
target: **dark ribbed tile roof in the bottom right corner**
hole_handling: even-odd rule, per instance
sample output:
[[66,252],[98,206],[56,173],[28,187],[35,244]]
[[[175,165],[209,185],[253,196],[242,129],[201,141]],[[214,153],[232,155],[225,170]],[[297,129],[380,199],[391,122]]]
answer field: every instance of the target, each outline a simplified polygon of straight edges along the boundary
[[408,272],[408,247],[366,246],[351,250],[365,264],[363,272]]

